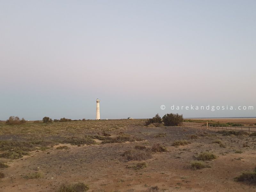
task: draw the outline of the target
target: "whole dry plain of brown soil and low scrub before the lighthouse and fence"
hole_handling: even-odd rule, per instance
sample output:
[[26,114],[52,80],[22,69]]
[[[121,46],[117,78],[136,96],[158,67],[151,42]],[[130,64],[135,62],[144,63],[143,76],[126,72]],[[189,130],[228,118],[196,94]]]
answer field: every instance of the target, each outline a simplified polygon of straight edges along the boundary
[[[249,121],[232,120],[256,123],[255,118]],[[176,126],[146,127],[144,122],[0,122],[0,162],[8,165],[0,168],[4,174],[0,191],[57,192],[61,184],[76,182],[95,192],[256,191],[256,185],[235,179],[256,167],[255,136],[223,136]],[[179,140],[187,142],[173,146]],[[154,151],[152,146],[166,151]],[[129,151],[138,153],[126,156]],[[206,168],[195,169],[191,162],[204,152],[216,159],[204,161]],[[142,160],[132,160],[136,158]],[[137,165],[141,162],[145,162],[143,167]]]

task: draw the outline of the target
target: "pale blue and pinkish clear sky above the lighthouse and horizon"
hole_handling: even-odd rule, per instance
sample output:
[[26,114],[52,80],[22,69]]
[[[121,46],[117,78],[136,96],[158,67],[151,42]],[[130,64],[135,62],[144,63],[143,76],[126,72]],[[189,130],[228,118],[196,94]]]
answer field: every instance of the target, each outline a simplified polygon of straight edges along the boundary
[[249,0],[0,0],[0,120],[95,119],[97,98],[101,119],[256,116],[255,9]]

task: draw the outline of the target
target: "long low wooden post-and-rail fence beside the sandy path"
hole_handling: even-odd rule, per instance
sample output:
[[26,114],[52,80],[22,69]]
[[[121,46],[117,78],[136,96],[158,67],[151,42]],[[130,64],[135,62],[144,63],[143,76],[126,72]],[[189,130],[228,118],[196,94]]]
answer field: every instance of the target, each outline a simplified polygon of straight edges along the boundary
[[253,133],[253,132],[256,132],[256,127],[244,127],[244,126],[241,126],[241,127],[234,127],[234,126],[226,126],[226,127],[223,127],[220,125],[217,127],[216,125],[211,125],[211,124],[208,124],[205,125],[205,124],[191,124],[191,123],[179,123],[178,126],[182,126],[182,127],[191,127],[191,128],[199,128],[201,130],[211,130],[211,131],[220,131],[220,130],[230,130],[230,131],[245,131],[245,132],[248,132],[249,135],[250,133]]

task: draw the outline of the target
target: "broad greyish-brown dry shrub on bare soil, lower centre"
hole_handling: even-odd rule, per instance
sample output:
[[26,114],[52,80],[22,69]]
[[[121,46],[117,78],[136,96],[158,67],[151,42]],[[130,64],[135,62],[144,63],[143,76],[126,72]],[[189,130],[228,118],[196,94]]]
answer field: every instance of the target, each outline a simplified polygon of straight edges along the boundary
[[138,150],[132,149],[129,151],[125,151],[122,156],[124,157],[125,161],[142,161],[147,160],[152,157],[150,150]]

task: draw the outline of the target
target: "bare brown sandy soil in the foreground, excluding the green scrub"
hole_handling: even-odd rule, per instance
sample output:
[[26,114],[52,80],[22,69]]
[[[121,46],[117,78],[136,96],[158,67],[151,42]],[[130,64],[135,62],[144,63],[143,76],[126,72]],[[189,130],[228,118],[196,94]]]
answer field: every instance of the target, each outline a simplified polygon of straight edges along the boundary
[[[154,137],[160,132],[167,133],[166,137]],[[30,156],[9,162],[10,167],[2,170],[6,177],[0,181],[0,191],[54,192],[62,183],[77,181],[85,182],[90,187],[88,191],[95,192],[150,191],[152,186],[158,186],[158,191],[256,191],[256,186],[234,180],[241,172],[256,167],[256,137],[220,134],[198,139],[187,137],[196,132],[196,129],[181,127],[133,127],[125,133],[140,136],[145,141],[80,147],[65,144],[69,149],[58,150],[58,146],[54,146],[46,151],[33,151]],[[171,146],[179,139],[187,139],[191,144]],[[216,139],[222,140],[226,148],[212,143]],[[245,142],[250,147],[243,148]],[[154,143],[164,144],[169,152],[155,153],[153,158],[146,160],[147,168],[126,168],[137,162],[125,162],[121,156],[124,151],[138,144],[152,146]],[[237,154],[235,150],[243,153]],[[190,162],[204,151],[217,156],[216,160],[207,162],[211,168],[191,169]],[[43,172],[44,178],[23,178],[36,170]]]

